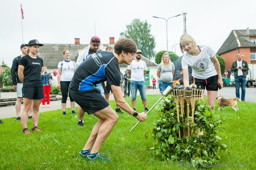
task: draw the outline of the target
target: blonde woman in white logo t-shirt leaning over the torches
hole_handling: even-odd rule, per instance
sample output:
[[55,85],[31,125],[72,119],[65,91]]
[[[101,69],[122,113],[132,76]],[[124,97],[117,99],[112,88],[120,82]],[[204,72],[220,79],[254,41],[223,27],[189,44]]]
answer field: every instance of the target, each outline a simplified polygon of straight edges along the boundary
[[218,93],[218,85],[223,87],[220,73],[220,63],[215,56],[216,52],[209,46],[197,46],[195,40],[189,34],[183,34],[180,38],[180,49],[184,53],[182,58],[182,70],[184,87],[189,86],[188,67],[192,68],[192,76],[195,78],[197,88],[202,88],[202,100],[204,89],[207,90],[207,103],[214,114],[214,105]]

